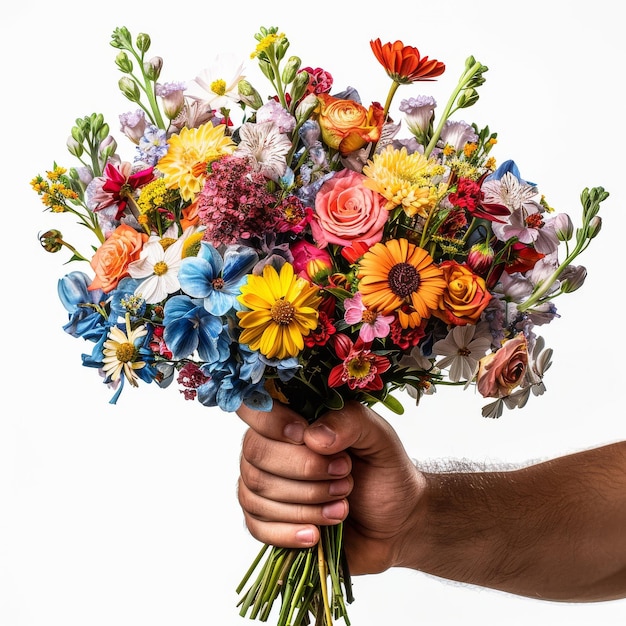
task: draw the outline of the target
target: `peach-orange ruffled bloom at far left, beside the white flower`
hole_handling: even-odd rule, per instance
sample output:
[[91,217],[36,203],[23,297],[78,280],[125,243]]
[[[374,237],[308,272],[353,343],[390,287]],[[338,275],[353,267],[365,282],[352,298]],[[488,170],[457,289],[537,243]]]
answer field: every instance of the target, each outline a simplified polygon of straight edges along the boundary
[[91,259],[96,277],[88,289],[102,289],[104,293],[115,289],[120,279],[128,275],[128,265],[139,258],[147,240],[148,235],[137,232],[128,224],[118,226]]

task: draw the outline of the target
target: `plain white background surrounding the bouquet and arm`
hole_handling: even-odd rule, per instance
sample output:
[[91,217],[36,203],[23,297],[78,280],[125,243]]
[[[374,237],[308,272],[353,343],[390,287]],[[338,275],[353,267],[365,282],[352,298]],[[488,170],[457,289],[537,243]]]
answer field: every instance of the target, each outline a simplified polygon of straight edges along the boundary
[[[247,4],[247,3],[246,3]],[[63,333],[56,296],[67,269],[37,233],[70,222],[43,212],[29,182],[53,161],[74,164],[65,141],[77,117],[102,112],[118,133],[133,108],[117,88],[117,26],[147,32],[163,81],[188,80],[218,52],[249,62],[260,26],[278,26],[304,65],[336,90],[384,102],[389,81],[369,41],[401,39],[443,61],[440,110],[472,54],[489,67],[479,102],[457,119],[489,124],[494,155],[513,158],[548,201],[578,219],[583,187],[604,186],[604,228],[581,259],[584,287],[557,302],[542,334],[554,348],[548,392],[499,420],[473,392],[440,392],[390,416],[409,453],[517,463],[623,439],[624,35],[619,3],[502,1],[11,3],[3,10],[1,626],[244,626],[235,587],[259,545],[236,501],[243,426],[177,391],[130,387],[117,406],[90,348]],[[130,153],[128,156],[131,156]],[[559,604],[450,584],[397,570],[354,581],[354,626],[528,622],[623,624],[626,600]]]

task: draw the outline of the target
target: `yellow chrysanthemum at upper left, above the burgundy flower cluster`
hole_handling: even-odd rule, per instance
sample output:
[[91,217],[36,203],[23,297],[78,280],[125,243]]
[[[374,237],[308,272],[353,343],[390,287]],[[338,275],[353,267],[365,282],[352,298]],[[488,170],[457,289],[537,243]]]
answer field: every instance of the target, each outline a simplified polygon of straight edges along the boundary
[[183,128],[169,139],[167,154],[157,163],[168,187],[178,187],[183,200],[193,200],[202,189],[207,165],[232,154],[236,144],[225,134],[226,126],[207,122],[198,128]]

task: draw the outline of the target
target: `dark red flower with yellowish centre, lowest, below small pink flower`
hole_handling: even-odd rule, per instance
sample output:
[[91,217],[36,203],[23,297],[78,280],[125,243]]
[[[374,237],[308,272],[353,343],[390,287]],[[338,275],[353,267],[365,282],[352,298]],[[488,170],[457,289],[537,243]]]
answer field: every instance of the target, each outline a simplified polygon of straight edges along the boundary
[[328,375],[328,384],[331,387],[348,385],[350,389],[366,389],[378,391],[383,388],[383,380],[380,375],[386,372],[391,363],[389,359],[374,354],[370,344],[364,344],[352,339],[343,333],[333,337],[333,345],[337,356],[343,361],[335,365]]

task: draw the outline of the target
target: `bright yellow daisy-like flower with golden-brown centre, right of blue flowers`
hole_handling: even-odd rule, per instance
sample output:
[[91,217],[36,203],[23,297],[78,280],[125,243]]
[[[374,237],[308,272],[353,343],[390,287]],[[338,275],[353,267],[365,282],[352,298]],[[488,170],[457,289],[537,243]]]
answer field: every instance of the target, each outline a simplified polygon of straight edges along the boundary
[[250,274],[237,298],[248,311],[238,311],[243,329],[239,342],[268,359],[297,356],[304,339],[317,327],[319,289],[294,274],[285,263],[280,273],[266,265],[262,275]]

